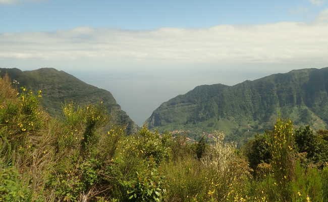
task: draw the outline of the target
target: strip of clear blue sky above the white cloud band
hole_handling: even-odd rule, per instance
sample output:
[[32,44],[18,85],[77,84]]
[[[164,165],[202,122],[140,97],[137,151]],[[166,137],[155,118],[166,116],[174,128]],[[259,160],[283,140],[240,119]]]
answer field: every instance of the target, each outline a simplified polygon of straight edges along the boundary
[[326,6],[320,2],[0,0],[0,32],[54,31],[81,26],[129,30],[207,28],[220,24],[311,21]]

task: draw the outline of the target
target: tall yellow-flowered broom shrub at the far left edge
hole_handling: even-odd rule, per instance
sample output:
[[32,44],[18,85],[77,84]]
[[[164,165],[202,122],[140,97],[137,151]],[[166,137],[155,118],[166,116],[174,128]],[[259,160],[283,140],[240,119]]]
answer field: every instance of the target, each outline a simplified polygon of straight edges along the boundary
[[[16,92],[9,90],[11,86],[5,78],[0,79],[0,85],[4,87],[0,96]],[[33,145],[41,139],[39,131],[44,127],[45,115],[39,107],[40,93],[35,96],[22,88],[16,97],[11,94],[9,100],[0,103],[0,158],[8,166],[30,161]]]

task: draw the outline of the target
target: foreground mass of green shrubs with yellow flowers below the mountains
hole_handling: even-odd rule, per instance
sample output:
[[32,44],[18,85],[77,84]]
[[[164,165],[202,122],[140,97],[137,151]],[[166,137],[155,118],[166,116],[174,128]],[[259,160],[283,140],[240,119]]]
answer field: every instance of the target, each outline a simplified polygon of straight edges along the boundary
[[241,149],[143,127],[126,135],[105,106],[40,107],[0,79],[0,201],[328,201],[327,130],[278,119]]

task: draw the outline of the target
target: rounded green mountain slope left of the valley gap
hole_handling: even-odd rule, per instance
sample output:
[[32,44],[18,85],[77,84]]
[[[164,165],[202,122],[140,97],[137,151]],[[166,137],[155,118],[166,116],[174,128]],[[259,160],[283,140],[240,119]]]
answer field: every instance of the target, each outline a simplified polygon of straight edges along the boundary
[[0,68],[1,76],[6,73],[11,79],[19,82],[17,87],[24,86],[33,91],[42,90],[41,104],[50,115],[60,115],[62,104],[65,102],[84,105],[99,104],[102,101],[114,124],[128,125],[129,133],[136,127],[130,117],[121,110],[111,92],[89,85],[64,71],[53,68],[33,71]]

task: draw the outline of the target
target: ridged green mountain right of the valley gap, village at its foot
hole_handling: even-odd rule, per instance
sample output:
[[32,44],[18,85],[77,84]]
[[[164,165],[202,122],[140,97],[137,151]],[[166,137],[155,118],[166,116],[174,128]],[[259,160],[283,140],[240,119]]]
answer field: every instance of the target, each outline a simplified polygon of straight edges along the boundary
[[230,140],[271,129],[277,116],[296,125],[328,124],[328,68],[293,70],[234,86],[201,85],[161,104],[149,128],[224,131]]

